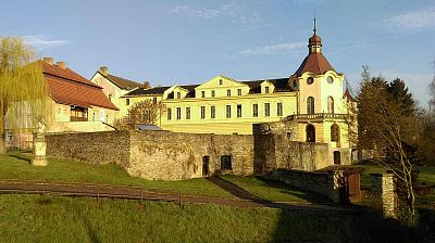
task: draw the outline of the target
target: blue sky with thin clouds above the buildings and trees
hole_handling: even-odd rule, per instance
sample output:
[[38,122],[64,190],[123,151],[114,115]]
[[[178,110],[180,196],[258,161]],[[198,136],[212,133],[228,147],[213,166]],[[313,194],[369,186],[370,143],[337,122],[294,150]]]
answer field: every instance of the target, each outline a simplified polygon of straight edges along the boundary
[[368,65],[426,106],[435,74],[434,0],[0,1],[0,36],[88,79],[100,66],[151,86],[289,77],[314,12],[323,54],[355,90]]

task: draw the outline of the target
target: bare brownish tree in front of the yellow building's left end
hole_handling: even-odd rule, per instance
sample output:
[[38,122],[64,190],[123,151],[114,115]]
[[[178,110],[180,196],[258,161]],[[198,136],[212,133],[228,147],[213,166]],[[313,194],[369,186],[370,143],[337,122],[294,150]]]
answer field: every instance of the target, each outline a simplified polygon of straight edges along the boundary
[[145,100],[133,104],[128,114],[115,122],[115,127],[122,130],[133,130],[138,124],[156,125],[162,114],[162,102]]

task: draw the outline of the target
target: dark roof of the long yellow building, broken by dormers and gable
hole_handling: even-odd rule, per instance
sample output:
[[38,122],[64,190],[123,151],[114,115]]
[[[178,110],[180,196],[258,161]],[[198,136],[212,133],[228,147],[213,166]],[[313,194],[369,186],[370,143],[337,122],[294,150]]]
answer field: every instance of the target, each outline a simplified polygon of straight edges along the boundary
[[[262,79],[262,80],[250,80],[240,82],[249,86],[250,88],[249,93],[261,93],[261,84],[266,80],[271,81],[275,86],[275,92],[293,91],[293,89],[287,86],[288,78]],[[189,91],[186,95],[187,98],[195,98],[195,88],[197,88],[198,86],[199,85],[179,86],[179,87],[187,89]],[[151,89],[139,88],[132,90],[130,92],[124,94],[124,97],[163,94],[163,92],[169,88],[171,87],[165,86],[165,87],[156,87]],[[171,99],[171,97],[169,98]]]

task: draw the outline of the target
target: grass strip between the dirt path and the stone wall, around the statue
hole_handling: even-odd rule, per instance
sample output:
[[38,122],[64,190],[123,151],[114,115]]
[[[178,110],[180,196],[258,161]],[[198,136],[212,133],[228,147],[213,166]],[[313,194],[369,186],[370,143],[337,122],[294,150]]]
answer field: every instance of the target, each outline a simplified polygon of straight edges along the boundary
[[0,179],[45,180],[80,183],[144,187],[183,194],[234,199],[210,181],[198,178],[182,181],[158,181],[130,177],[117,165],[91,165],[79,162],[49,159],[48,166],[33,166],[20,153],[0,156]]

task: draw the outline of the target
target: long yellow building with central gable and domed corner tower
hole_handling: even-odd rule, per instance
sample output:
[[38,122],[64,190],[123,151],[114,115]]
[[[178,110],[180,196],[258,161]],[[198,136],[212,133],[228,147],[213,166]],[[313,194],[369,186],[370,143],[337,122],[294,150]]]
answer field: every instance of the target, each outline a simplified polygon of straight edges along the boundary
[[201,85],[138,88],[120,98],[119,108],[162,101],[157,125],[176,132],[252,135],[252,124],[287,120],[295,125],[294,141],[350,148],[346,116],[352,98],[344,95],[344,75],[322,54],[315,23],[313,30],[307,57],[289,77],[240,81],[219,75]]

